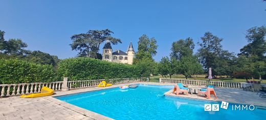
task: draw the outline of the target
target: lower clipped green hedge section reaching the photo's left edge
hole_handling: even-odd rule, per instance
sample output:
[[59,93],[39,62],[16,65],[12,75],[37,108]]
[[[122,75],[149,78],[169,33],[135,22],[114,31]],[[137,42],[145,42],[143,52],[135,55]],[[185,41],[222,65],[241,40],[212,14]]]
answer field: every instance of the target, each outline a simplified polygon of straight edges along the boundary
[[18,59],[0,59],[0,84],[57,81],[51,65],[39,65]]

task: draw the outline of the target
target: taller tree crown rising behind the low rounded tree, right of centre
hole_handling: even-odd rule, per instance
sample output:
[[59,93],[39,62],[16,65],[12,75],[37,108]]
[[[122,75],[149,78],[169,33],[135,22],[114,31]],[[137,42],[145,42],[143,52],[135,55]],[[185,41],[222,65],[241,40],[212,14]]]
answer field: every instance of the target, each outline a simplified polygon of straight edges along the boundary
[[195,44],[192,38],[180,39],[172,43],[170,56],[176,59],[181,59],[183,56],[192,56],[194,48]]

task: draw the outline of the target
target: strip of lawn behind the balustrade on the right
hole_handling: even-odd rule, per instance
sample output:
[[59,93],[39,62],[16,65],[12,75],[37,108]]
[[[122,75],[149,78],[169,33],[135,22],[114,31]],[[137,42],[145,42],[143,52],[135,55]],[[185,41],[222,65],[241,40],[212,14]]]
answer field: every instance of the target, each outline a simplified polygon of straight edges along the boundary
[[[169,75],[166,75],[167,78],[170,78]],[[222,77],[226,77],[226,76],[222,76]],[[150,82],[159,82],[159,78],[163,78],[162,75],[154,75],[154,76],[150,76]],[[164,77],[165,78],[165,77]],[[172,75],[172,78],[179,78],[179,79],[186,79],[186,77],[182,74],[178,74],[178,75]],[[193,78],[188,78],[188,79],[193,79]],[[208,78],[205,78],[205,75],[197,75],[196,80],[203,80],[203,81],[207,81]],[[252,81],[252,79],[248,79],[249,81]],[[211,81],[224,81],[224,82],[246,82],[246,79],[237,79],[237,78],[216,78],[216,79],[212,79]],[[259,79],[255,79],[255,81],[259,81]],[[266,80],[262,80],[263,84],[266,84]]]

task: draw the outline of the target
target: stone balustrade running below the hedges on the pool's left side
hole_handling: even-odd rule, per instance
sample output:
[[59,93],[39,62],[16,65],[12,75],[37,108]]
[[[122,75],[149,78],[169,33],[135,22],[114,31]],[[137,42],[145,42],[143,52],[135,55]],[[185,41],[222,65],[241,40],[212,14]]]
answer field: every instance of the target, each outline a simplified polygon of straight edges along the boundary
[[107,80],[95,79],[95,80],[84,80],[84,81],[68,81],[68,78],[64,77],[64,82],[67,84],[66,86],[64,86],[63,81],[50,82],[50,83],[0,84],[0,97],[39,93],[43,86],[49,87],[55,91],[95,87],[99,85],[102,81],[106,81],[106,83],[109,84],[121,84],[129,82],[148,81],[148,78],[115,78]]

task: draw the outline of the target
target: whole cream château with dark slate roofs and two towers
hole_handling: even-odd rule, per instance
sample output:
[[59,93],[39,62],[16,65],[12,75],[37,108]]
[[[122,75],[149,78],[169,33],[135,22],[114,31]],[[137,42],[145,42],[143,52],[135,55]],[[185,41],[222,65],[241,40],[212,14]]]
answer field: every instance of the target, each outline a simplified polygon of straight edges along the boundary
[[102,60],[132,65],[134,55],[135,51],[132,42],[129,44],[127,52],[123,52],[122,50],[113,52],[110,42],[106,42],[103,47]]

